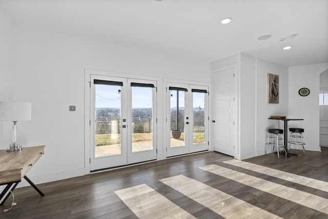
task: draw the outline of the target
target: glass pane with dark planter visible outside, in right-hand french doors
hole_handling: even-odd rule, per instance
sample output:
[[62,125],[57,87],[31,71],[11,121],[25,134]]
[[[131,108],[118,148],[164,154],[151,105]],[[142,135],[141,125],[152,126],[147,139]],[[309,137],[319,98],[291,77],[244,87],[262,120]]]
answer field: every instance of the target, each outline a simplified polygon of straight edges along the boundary
[[185,146],[185,91],[170,90],[170,147]]

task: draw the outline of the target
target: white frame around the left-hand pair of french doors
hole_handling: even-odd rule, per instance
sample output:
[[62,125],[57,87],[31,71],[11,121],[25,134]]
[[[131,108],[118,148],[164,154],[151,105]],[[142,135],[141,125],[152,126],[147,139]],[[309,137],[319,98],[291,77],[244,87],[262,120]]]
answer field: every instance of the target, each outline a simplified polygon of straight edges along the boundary
[[[147,76],[147,75],[136,75],[136,74],[129,74],[129,73],[122,73],[122,72],[113,72],[113,71],[103,71],[103,70],[96,70],[96,69],[85,69],[85,141],[84,141],[84,147],[85,147],[85,174],[90,174],[90,158],[91,158],[91,153],[90,153],[90,141],[91,141],[91,126],[90,126],[90,113],[91,113],[91,81],[90,77],[91,75],[99,75],[99,76],[108,76],[108,77],[122,77],[122,78],[131,78],[131,79],[140,79],[140,80],[146,80],[146,81],[156,81],[156,84],[158,86],[157,88],[157,105],[158,102],[160,101],[158,97],[162,96],[162,88],[161,85],[162,82],[159,77],[154,77],[154,76]],[[157,107],[157,124],[156,124],[156,130],[157,133],[161,133],[162,130],[162,122],[163,117],[162,117],[162,109],[160,107]],[[163,154],[160,155],[160,153],[163,153],[163,150],[160,150],[159,148],[162,148],[162,144],[160,141],[162,140],[162,135],[157,135],[157,160],[162,160]]]

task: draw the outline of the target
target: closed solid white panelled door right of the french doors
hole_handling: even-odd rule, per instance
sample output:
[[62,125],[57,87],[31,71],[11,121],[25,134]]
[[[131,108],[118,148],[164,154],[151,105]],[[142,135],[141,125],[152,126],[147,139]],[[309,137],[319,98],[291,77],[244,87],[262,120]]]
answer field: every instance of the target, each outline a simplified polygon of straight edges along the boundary
[[236,68],[213,73],[213,150],[235,155],[237,121]]

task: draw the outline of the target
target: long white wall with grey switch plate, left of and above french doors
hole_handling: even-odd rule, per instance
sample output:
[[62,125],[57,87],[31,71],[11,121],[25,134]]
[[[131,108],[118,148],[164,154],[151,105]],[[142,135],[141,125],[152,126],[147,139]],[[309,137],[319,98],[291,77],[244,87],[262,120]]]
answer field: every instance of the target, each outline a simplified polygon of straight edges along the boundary
[[14,25],[13,35],[13,98],[32,102],[32,121],[19,124],[19,142],[46,145],[29,172],[34,183],[84,174],[85,68],[210,82],[208,63],[31,26]]

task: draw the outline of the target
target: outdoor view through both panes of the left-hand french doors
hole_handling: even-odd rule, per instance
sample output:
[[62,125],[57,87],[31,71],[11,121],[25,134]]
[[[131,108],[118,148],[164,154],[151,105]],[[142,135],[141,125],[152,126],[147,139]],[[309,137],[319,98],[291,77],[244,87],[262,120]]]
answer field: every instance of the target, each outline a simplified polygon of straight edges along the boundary
[[[95,86],[95,156],[121,154],[121,87]],[[131,87],[132,152],[153,149],[152,87]],[[125,118],[127,116],[124,116]]]

